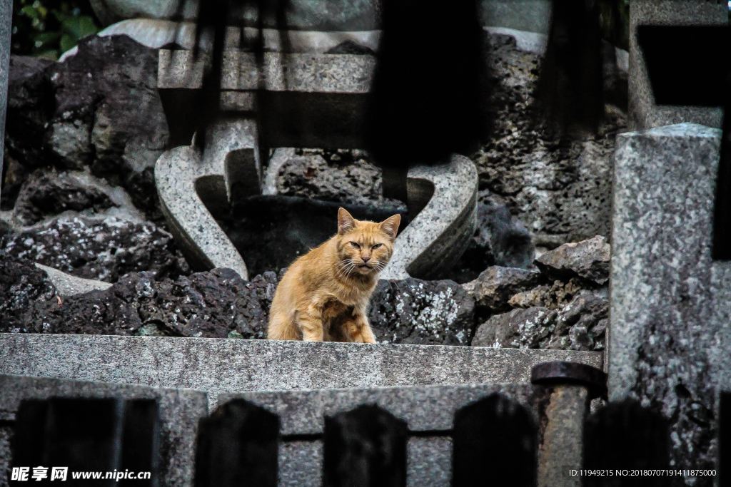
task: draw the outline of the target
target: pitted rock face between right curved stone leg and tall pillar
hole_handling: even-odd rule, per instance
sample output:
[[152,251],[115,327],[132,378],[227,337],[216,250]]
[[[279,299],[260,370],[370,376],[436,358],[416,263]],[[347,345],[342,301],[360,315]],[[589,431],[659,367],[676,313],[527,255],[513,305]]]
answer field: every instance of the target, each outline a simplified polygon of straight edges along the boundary
[[471,157],[480,190],[506,204],[536,245],[608,237],[613,153],[616,134],[626,126],[624,112],[607,105],[599,134],[585,141],[560,145],[547,139],[526,116],[541,56],[518,49],[510,36],[491,34],[490,42],[493,132]]

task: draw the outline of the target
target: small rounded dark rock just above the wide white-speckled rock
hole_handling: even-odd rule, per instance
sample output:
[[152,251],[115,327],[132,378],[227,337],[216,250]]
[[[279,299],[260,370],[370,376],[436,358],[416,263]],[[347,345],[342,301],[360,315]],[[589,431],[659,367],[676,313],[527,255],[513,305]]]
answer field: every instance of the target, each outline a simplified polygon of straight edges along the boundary
[[22,225],[32,225],[48,215],[74,210],[98,212],[113,207],[110,197],[88,181],[68,172],[36,171],[20,188],[13,217]]

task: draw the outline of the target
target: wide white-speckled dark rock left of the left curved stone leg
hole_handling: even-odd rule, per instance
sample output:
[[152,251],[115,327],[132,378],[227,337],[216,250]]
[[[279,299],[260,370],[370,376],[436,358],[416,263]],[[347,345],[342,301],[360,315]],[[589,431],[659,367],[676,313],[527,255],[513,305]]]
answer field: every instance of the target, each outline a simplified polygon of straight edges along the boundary
[[135,271],[152,271],[158,278],[190,272],[167,231],[115,217],[57,218],[8,232],[0,239],[0,253],[107,282]]

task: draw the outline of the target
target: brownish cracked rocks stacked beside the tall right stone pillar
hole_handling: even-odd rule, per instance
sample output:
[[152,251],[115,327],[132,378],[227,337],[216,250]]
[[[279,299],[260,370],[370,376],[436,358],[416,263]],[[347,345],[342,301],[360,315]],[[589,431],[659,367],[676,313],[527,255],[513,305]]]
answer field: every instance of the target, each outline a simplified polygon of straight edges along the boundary
[[594,237],[543,254],[538,272],[487,269],[464,285],[485,320],[471,345],[604,350],[609,262],[609,244]]

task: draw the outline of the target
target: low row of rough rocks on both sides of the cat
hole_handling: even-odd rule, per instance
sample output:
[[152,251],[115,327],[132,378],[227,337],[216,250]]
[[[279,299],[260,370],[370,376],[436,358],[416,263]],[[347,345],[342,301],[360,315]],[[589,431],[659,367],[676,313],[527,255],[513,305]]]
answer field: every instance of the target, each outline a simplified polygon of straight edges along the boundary
[[[381,280],[368,318],[382,343],[602,350],[608,263],[595,237],[544,254],[539,271],[492,266],[464,285]],[[2,258],[0,275],[0,331],[175,337],[263,338],[278,282],[274,272],[132,272],[104,291],[60,296],[29,261]]]

